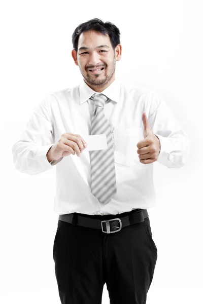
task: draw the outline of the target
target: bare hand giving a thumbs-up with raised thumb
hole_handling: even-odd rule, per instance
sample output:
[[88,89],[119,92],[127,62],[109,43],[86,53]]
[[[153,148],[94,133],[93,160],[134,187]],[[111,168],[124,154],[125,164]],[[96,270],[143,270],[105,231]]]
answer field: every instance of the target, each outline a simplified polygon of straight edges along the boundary
[[146,113],[142,116],[144,125],[144,138],[137,144],[139,159],[142,164],[151,164],[158,160],[160,153],[160,140],[154,135],[152,128],[148,122]]

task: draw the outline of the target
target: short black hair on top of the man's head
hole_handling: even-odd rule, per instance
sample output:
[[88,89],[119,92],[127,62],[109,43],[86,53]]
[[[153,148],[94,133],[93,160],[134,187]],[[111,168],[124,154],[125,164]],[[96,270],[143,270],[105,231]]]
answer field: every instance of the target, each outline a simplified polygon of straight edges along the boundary
[[72,43],[74,50],[76,50],[76,53],[78,53],[78,39],[80,34],[88,30],[98,31],[103,35],[108,34],[112,48],[114,50],[116,46],[120,44],[120,30],[118,27],[111,22],[103,22],[101,19],[94,18],[81,23],[74,30],[74,33],[72,35]]

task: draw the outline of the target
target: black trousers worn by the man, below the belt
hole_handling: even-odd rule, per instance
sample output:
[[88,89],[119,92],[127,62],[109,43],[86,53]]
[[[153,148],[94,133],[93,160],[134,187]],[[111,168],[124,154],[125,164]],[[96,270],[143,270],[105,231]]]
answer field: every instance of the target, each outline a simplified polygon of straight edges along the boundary
[[149,217],[112,234],[58,220],[53,259],[62,304],[101,304],[105,283],[110,304],[145,304],[157,260]]

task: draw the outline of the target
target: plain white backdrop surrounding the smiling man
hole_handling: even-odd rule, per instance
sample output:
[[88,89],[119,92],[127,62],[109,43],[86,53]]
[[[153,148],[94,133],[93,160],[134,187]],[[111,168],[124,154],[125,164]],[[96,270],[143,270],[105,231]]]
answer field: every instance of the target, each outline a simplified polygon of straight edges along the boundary
[[[55,168],[36,176],[22,174],[15,169],[11,148],[44,96],[79,84],[82,75],[71,56],[71,36],[92,18],[113,22],[121,31],[117,77],[157,91],[191,140],[184,167],[154,163],[157,203],[148,212],[158,259],[147,304],[201,302],[200,3],[19,0],[2,6],[1,303],[60,303],[52,258],[58,221],[53,211]],[[109,303],[106,284],[102,303]]]

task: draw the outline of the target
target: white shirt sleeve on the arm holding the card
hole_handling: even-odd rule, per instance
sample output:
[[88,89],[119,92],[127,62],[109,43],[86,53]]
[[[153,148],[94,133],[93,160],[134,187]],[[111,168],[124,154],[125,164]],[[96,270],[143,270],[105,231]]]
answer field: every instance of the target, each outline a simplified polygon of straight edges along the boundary
[[16,169],[22,173],[35,175],[42,173],[61,161],[49,163],[47,152],[54,144],[53,127],[49,115],[47,98],[37,105],[26,128],[12,147]]

